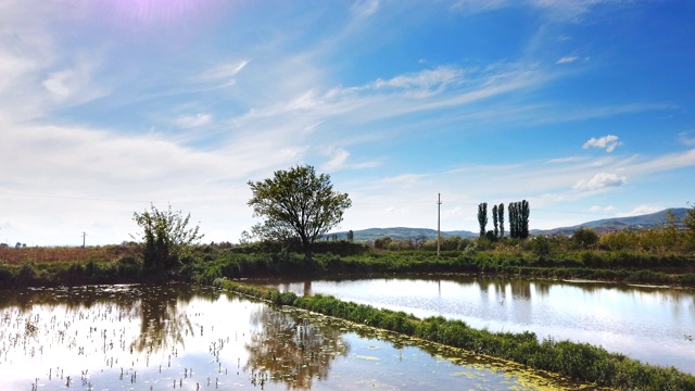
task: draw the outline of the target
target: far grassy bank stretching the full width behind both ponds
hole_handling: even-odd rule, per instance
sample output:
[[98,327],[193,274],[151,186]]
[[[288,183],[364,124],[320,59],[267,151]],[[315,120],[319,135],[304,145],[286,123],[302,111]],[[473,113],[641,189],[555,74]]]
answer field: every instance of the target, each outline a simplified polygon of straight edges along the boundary
[[[274,252],[258,250],[277,250]],[[364,245],[326,245],[312,256],[281,249],[200,245],[177,267],[143,270],[137,245],[88,249],[4,249],[0,288],[176,279],[210,285],[217,278],[456,273],[510,278],[587,279],[695,287],[695,257],[629,251],[567,251],[553,257],[513,249],[480,251],[386,251]],[[336,251],[336,252],[331,252]],[[68,260],[67,256],[75,256]]]

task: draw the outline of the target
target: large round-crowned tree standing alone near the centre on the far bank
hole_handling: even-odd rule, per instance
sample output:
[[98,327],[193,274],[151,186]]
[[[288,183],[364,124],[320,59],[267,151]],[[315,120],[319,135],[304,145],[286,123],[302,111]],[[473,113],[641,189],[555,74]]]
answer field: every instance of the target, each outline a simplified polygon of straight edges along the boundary
[[317,238],[342,222],[343,212],[352,205],[348,193],[333,191],[329,175],[316,176],[309,165],[277,171],[273,178],[250,180],[249,186],[254,217],[265,217],[253,232],[266,240],[299,239],[306,253]]

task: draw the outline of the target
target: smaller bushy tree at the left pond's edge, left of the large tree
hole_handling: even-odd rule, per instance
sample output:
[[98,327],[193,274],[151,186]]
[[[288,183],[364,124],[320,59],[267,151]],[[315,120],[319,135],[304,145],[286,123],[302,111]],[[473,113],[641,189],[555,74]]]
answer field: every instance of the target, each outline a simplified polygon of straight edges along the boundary
[[150,211],[132,214],[132,219],[142,228],[140,238],[144,241],[146,268],[173,268],[187,255],[190,245],[203,238],[199,226],[188,227],[190,217],[190,213],[184,217],[181,211],[173,211],[170,204],[166,211],[150,204]]

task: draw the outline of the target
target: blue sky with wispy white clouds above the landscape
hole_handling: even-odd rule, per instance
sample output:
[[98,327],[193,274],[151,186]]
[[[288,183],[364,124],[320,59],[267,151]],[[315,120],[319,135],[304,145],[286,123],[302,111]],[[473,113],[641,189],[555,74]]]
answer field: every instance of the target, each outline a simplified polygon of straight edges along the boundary
[[[338,230],[530,228],[695,202],[695,2],[3,0],[0,241],[117,244],[150,205],[202,242],[312,165]],[[438,197],[441,194],[441,205]]]

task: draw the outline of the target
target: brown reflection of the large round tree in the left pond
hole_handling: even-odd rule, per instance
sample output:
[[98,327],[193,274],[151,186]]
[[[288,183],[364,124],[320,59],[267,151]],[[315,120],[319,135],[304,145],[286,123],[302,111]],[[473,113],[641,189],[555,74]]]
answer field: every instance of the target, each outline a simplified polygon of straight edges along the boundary
[[331,362],[350,351],[340,330],[270,307],[252,314],[251,324],[260,331],[245,345],[249,361],[244,370],[251,370],[252,381],[261,386],[273,381],[311,389],[314,378],[327,379]]

